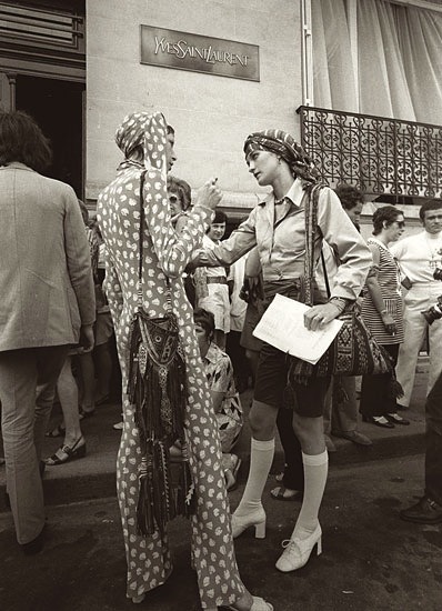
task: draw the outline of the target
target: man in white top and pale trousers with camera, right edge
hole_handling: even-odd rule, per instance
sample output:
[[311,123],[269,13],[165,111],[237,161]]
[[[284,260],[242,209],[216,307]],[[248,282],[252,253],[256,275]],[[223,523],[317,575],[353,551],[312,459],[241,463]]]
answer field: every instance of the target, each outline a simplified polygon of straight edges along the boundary
[[420,211],[423,231],[400,240],[391,247],[408,289],[404,296],[404,342],[399,349],[396,378],[404,395],[399,408],[410,405],[415,368],[422,342],[429,331],[430,373],[432,389],[442,370],[442,320],[429,324],[423,311],[434,307],[442,292],[442,201],[425,202]]

